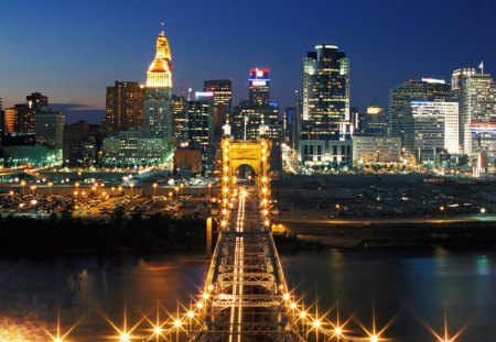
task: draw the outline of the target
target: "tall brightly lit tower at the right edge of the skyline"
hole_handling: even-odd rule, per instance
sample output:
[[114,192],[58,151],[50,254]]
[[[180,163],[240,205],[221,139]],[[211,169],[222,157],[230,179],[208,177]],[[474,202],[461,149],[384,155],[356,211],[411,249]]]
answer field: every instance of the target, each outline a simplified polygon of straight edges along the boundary
[[[473,156],[481,150],[479,137],[485,136],[484,140],[489,141],[494,133],[489,130],[490,124],[496,123],[496,85],[492,76],[472,73],[463,75],[460,79],[459,102],[461,144],[464,153]],[[486,147],[482,150],[484,148]],[[489,154],[493,152],[489,151]]]

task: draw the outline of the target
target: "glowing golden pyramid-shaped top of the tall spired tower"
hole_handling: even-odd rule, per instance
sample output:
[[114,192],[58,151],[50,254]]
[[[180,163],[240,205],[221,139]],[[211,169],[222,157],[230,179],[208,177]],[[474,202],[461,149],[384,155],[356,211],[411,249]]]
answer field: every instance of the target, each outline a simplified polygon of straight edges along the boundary
[[147,88],[172,88],[172,57],[165,32],[157,37],[155,58],[147,71]]

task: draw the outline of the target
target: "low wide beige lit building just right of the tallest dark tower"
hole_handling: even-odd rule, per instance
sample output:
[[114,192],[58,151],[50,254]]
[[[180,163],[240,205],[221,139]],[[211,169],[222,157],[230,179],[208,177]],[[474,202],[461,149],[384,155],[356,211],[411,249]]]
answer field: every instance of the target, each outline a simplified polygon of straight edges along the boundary
[[391,163],[401,159],[401,139],[392,136],[353,136],[354,163]]

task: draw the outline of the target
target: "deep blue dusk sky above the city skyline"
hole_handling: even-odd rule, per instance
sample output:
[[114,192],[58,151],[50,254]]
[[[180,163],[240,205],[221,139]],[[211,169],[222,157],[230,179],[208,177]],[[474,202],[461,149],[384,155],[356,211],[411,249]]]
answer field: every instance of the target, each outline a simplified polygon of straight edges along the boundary
[[[144,81],[160,22],[172,49],[174,92],[233,78],[247,98],[248,69],[271,70],[271,98],[292,106],[301,63],[315,44],[351,58],[352,106],[409,78],[450,79],[459,67],[495,73],[495,0],[23,0],[0,4],[0,98],[41,91],[68,121],[97,122],[105,87]],[[54,106],[56,107],[56,106]],[[74,111],[77,109],[77,111]]]

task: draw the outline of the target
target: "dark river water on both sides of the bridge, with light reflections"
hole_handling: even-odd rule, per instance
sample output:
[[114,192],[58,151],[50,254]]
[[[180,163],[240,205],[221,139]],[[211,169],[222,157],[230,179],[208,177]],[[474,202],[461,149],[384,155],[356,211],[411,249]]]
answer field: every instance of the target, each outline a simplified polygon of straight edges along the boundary
[[[346,327],[388,328],[387,341],[496,341],[496,253],[433,249],[330,250],[281,255],[301,305]],[[69,341],[108,341],[110,322],[130,326],[174,315],[198,293],[208,261],[201,255],[0,257],[0,341],[50,341],[57,317]],[[184,310],[183,310],[184,311]],[[374,312],[374,313],[373,313]],[[165,315],[165,313],[163,313]],[[374,317],[374,318],[373,318]],[[147,327],[143,322],[137,329]]]

